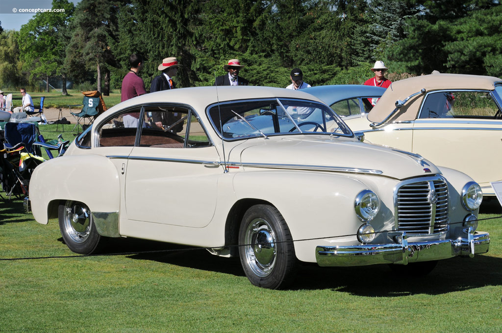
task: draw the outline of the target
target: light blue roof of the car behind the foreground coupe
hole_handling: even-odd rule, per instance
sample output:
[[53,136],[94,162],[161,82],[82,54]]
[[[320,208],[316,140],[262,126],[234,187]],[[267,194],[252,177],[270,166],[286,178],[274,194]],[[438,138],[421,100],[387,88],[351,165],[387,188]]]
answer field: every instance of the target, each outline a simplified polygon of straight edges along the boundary
[[349,98],[380,97],[386,91],[386,88],[365,86],[362,84],[336,84],[305,88],[302,91],[322,99],[328,105],[332,105]]

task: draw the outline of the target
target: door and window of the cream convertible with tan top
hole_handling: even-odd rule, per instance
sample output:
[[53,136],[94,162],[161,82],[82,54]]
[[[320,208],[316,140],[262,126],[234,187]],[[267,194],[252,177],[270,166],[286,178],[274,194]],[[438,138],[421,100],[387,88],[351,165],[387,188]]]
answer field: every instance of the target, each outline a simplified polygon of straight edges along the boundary
[[502,179],[502,120],[490,91],[434,91],[413,125],[413,152],[457,169],[485,189]]

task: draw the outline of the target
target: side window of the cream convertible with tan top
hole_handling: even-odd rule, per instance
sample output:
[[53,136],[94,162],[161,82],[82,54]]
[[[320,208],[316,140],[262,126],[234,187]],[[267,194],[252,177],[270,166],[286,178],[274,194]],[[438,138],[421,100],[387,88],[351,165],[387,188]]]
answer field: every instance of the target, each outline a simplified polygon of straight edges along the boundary
[[442,91],[427,95],[420,118],[495,118],[497,112],[489,92]]

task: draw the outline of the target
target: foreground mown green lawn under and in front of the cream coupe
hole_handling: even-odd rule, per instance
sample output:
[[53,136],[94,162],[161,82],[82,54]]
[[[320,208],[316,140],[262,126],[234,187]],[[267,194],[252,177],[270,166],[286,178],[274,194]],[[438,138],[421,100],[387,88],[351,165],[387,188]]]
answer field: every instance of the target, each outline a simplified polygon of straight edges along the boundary
[[251,285],[238,259],[179,245],[109,239],[105,254],[170,251],[72,257],[57,221],[0,200],[0,259],[63,256],[0,261],[0,331],[499,332],[502,219],[479,230],[490,232],[487,254],[440,261],[426,277],[309,265],[277,291]]

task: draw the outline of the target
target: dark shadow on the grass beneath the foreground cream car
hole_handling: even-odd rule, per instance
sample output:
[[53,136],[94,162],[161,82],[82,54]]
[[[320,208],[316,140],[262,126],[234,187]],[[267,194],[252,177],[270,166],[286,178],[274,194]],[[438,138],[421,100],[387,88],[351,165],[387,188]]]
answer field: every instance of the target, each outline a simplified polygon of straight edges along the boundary
[[[62,242],[60,238],[59,241]],[[107,239],[102,254],[165,251],[128,255],[135,260],[244,277],[239,258],[223,258],[204,249],[141,239]],[[488,254],[474,258],[440,260],[427,276],[407,277],[391,271],[388,265],[360,267],[319,267],[302,263],[289,290],[331,289],[368,297],[397,297],[415,294],[439,295],[483,286],[502,285],[502,258]]]

